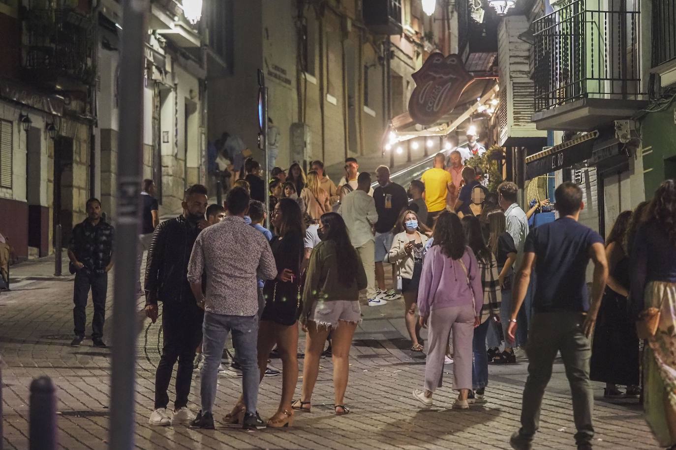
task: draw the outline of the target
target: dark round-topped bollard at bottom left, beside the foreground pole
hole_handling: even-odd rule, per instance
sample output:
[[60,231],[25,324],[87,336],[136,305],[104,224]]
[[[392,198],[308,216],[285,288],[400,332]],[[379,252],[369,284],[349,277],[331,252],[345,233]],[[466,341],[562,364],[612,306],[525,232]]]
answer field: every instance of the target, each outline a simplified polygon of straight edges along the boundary
[[57,448],[56,395],[49,376],[34,378],[30,383],[29,417],[30,450],[55,450]]

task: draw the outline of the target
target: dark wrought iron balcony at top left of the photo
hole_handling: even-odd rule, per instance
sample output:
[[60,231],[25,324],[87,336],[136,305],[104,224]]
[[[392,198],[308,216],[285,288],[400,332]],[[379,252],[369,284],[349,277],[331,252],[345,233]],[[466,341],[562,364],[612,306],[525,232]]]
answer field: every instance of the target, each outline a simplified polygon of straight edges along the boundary
[[73,9],[29,9],[22,17],[22,67],[32,80],[92,84],[95,23]]

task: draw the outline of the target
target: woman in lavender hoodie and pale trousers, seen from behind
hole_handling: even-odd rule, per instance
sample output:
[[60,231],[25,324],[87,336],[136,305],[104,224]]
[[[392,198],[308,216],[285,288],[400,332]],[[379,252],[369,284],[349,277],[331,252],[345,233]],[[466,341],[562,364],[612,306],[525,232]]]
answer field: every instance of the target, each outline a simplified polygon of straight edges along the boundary
[[443,357],[452,331],[453,389],[460,391],[453,408],[466,410],[467,395],[472,389],[472,340],[483,305],[481,272],[474,252],[466,246],[462,223],[456,214],[441,213],[433,237],[418,288],[420,325],[429,327],[425,390],[416,389],[413,396],[427,407],[432,405],[432,394],[441,387]]

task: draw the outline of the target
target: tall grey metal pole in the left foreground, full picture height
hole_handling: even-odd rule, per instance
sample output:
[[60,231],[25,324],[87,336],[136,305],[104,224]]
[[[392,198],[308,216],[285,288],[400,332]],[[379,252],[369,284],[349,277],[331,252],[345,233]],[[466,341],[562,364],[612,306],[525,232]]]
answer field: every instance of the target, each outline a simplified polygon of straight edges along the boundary
[[143,128],[143,43],[149,0],[125,0],[120,57],[120,133],[118,134],[118,221],[113,298],[109,448],[134,448],[136,296]]

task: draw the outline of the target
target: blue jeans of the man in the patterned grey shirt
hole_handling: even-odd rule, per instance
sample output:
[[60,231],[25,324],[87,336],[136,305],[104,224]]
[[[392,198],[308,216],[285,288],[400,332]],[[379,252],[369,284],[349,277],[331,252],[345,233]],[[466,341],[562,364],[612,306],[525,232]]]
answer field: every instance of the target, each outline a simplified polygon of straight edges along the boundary
[[199,393],[202,412],[212,412],[218,385],[218,366],[228,333],[233,333],[233,347],[237,349],[237,361],[242,366],[242,393],[247,413],[256,413],[258,402],[258,316],[224,316],[212,312],[204,313],[202,325],[202,354],[204,364],[201,371]]

